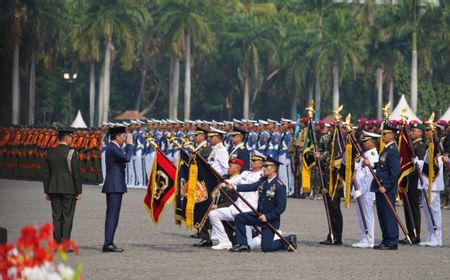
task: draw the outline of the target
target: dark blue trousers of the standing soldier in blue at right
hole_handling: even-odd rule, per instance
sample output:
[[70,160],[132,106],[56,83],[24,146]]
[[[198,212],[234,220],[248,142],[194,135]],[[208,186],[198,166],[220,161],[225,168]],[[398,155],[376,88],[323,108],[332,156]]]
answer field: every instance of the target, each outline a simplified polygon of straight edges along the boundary
[[[387,195],[389,200],[395,209],[395,194]],[[393,246],[398,244],[398,225],[394,214],[389,209],[386,200],[383,195],[379,192],[375,193],[378,220],[380,221],[380,228],[383,236],[383,241],[381,242],[387,246]]]

